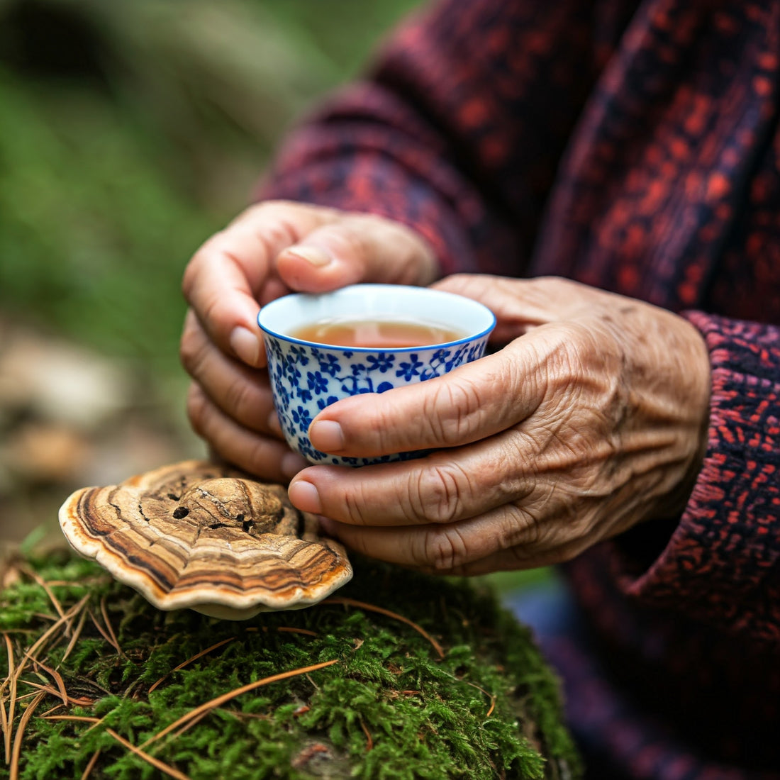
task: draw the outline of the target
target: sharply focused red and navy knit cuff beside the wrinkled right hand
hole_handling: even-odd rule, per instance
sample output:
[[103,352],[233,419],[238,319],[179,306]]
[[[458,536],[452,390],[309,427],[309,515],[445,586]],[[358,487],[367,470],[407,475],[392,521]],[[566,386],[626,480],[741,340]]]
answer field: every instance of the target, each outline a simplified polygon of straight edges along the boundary
[[619,583],[644,604],[780,644],[780,327],[686,317],[712,364],[704,467],[660,555]]

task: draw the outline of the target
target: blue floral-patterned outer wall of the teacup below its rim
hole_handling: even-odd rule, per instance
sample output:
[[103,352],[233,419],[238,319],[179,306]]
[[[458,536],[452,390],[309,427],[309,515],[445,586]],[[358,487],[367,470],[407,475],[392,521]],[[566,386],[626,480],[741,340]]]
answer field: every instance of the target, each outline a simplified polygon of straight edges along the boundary
[[403,350],[351,350],[308,346],[264,335],[268,371],[279,422],[289,445],[310,463],[367,466],[424,456],[429,450],[376,458],[346,458],[314,449],[307,432],[326,406],[347,395],[381,393],[439,377],[484,354],[488,335],[450,346]]

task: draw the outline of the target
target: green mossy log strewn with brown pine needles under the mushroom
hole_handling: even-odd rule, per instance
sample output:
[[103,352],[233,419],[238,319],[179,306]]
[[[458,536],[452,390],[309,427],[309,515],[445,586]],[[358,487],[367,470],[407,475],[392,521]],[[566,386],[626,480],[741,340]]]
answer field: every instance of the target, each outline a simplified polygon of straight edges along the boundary
[[319,605],[229,622],[64,552],[2,581],[2,778],[581,776],[555,675],[473,583],[357,560]]

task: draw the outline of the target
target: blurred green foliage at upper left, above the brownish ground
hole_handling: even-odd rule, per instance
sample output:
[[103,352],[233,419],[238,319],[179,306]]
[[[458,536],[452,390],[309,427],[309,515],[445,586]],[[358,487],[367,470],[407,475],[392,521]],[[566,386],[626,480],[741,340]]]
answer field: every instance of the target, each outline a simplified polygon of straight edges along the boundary
[[413,0],[0,0],[0,315],[179,371],[183,267]]

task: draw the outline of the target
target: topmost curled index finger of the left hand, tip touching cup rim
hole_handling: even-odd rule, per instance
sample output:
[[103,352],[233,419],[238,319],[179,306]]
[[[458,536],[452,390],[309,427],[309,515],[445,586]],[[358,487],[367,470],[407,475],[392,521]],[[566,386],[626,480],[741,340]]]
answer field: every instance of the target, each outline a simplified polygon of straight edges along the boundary
[[258,204],[200,247],[184,272],[184,296],[209,337],[250,366],[264,362],[257,303],[285,246],[331,218],[304,204]]

